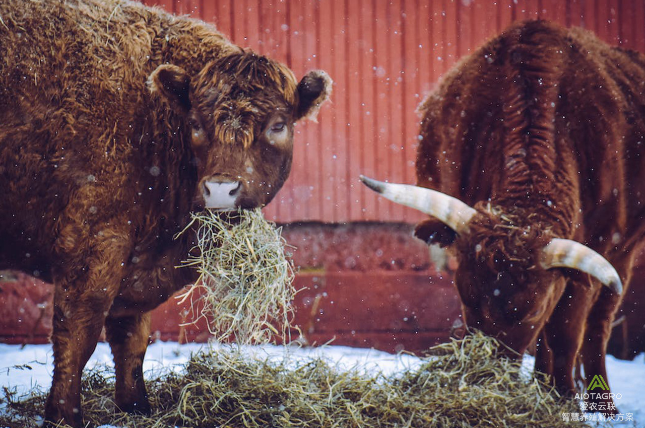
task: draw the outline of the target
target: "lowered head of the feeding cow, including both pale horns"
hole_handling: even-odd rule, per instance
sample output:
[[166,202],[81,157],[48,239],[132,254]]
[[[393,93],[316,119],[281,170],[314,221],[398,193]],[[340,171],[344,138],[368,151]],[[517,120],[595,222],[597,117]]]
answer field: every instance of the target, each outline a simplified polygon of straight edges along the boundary
[[519,353],[534,342],[564,291],[570,272],[557,268],[588,273],[615,293],[622,291],[618,273],[599,253],[551,236],[530,218],[490,203],[472,208],[435,190],[361,180],[383,197],[419,209],[456,232],[455,285],[466,324],[497,336]]

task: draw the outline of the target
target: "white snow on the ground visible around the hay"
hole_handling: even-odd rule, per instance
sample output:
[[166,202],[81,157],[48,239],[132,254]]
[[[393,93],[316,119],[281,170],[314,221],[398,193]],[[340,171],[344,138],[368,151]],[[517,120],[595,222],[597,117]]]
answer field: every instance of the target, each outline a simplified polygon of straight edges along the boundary
[[[204,344],[184,344],[175,342],[155,342],[148,347],[144,361],[144,371],[160,369],[161,367],[181,367]],[[248,352],[256,353],[259,358],[267,356],[283,358],[284,348],[265,345],[252,347]],[[311,356],[322,356],[326,360],[336,362],[339,367],[364,367],[368,370],[380,370],[384,374],[412,369],[421,364],[421,360],[410,355],[392,355],[373,349],[359,349],[343,346],[326,346],[321,348],[293,349],[289,348],[290,360],[294,364],[300,359]],[[96,364],[112,365],[112,354],[108,344],[100,343],[88,367]],[[530,356],[524,358],[525,367],[530,370],[533,360]],[[0,388],[16,388],[19,393],[40,385],[48,389],[52,373],[51,345],[19,345],[0,344]],[[616,405],[621,412],[623,422],[614,422],[613,426],[645,428],[645,355],[639,355],[633,361],[617,360],[607,357],[608,376],[611,390],[617,394]],[[1,409],[0,409],[1,411]],[[628,422],[627,420],[635,422]],[[110,427],[102,427],[110,428]]]

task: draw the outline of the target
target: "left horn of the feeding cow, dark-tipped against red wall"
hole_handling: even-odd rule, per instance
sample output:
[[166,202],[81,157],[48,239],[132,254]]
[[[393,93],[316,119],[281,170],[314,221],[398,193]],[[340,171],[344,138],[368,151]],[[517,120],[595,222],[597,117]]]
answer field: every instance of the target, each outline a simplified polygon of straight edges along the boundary
[[468,222],[477,213],[468,204],[440,191],[411,184],[386,183],[364,175],[360,178],[368,188],[381,193],[382,197],[432,215],[460,234],[468,233]]

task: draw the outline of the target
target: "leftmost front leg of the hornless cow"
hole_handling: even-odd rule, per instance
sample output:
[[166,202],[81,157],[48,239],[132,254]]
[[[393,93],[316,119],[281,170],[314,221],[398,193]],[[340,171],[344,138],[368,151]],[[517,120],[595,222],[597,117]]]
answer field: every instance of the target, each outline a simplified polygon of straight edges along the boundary
[[104,292],[84,290],[84,284],[61,287],[55,284],[54,376],[45,404],[45,420],[61,420],[73,427],[83,426],[81,374],[96,347],[103,322],[112,302]]

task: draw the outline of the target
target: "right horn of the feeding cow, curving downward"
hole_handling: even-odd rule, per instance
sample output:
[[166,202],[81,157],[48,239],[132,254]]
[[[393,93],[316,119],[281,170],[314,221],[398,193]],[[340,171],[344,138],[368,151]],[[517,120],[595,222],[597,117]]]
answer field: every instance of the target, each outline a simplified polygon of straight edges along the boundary
[[586,272],[608,286],[614,293],[622,293],[622,282],[616,269],[606,258],[580,242],[554,238],[542,249],[540,264],[544,269],[571,267],[571,269]]

